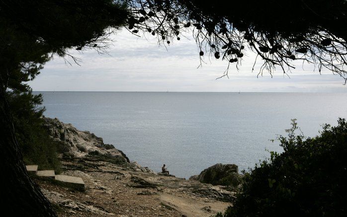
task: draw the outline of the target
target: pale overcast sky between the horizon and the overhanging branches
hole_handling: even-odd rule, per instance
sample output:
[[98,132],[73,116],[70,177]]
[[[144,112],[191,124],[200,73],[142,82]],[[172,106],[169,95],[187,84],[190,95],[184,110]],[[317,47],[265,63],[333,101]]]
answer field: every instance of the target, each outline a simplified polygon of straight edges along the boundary
[[255,55],[248,51],[240,71],[231,65],[229,79],[216,80],[226,70],[227,61],[205,57],[207,64],[197,68],[199,50],[194,40],[181,37],[165,48],[151,37],[146,40],[127,31],[114,40],[109,55],[71,51],[82,60],[81,66],[54,58],[29,84],[34,91],[347,92],[339,75],[328,71],[320,75],[313,72],[313,65],[301,62],[290,78],[280,71],[272,78],[266,72],[257,78],[258,71],[252,72]]

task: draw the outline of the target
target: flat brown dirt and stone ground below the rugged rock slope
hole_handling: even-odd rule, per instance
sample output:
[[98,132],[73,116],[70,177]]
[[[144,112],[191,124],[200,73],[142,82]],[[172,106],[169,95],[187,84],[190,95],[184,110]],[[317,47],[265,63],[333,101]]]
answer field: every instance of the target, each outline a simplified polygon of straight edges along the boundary
[[[233,192],[221,186],[202,184],[141,171],[131,164],[62,161],[63,174],[81,177],[86,191],[37,180],[59,217],[210,217],[223,212]],[[82,170],[80,170],[82,168]]]

